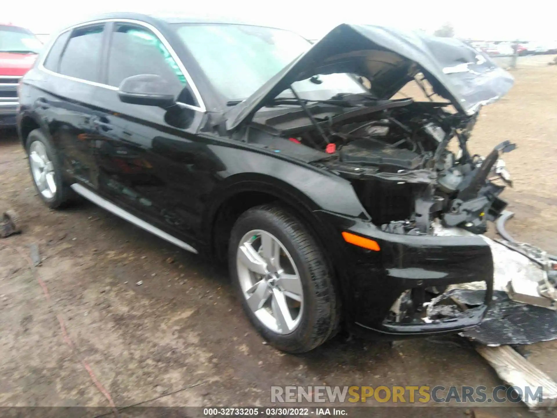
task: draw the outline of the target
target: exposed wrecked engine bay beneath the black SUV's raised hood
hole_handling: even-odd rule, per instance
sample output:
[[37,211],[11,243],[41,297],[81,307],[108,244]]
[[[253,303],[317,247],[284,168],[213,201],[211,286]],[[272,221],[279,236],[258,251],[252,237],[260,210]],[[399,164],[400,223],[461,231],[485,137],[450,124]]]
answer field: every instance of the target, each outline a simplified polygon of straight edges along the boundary
[[512,182],[500,157],[515,145],[501,143],[487,157],[471,154],[467,142],[479,111],[463,115],[447,102],[361,95],[299,101],[297,109],[280,106],[295,104],[289,99],[275,101],[278,112],[256,116],[252,126],[318,151],[311,164],[349,179],[383,231],[432,234],[439,219],[482,234],[506,207],[499,195]]

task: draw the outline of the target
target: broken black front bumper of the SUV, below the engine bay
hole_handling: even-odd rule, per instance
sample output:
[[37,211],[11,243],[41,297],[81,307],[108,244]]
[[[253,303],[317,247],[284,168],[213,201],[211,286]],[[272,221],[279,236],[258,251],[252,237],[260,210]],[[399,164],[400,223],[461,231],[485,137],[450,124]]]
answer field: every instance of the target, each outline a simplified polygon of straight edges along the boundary
[[[348,282],[349,324],[356,333],[399,339],[458,332],[481,322],[491,302],[494,263],[481,236],[402,235],[369,222],[346,220],[337,226],[377,241],[380,251],[344,242],[343,280]],[[340,235],[340,234],[339,234]],[[427,316],[427,305],[454,285],[483,282],[480,305],[450,317]]]

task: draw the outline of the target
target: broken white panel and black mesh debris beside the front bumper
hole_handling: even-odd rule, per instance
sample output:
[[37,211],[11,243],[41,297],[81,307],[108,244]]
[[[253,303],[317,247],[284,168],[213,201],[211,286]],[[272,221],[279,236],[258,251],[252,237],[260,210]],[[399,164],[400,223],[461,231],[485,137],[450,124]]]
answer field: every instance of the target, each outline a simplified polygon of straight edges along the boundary
[[[509,219],[509,212],[503,213]],[[503,222],[504,224],[504,222]],[[499,228],[498,228],[499,229]],[[504,230],[504,225],[503,229]],[[440,234],[467,235],[460,229],[443,229]],[[506,237],[510,237],[505,234]],[[491,240],[494,260],[493,300],[485,318],[461,336],[487,346],[532,344],[557,338],[557,263],[545,251],[514,240]],[[440,304],[451,298],[459,307],[475,307],[483,303],[483,283],[453,285],[446,294],[432,301],[429,314],[451,314]],[[454,309],[454,307],[453,307]]]

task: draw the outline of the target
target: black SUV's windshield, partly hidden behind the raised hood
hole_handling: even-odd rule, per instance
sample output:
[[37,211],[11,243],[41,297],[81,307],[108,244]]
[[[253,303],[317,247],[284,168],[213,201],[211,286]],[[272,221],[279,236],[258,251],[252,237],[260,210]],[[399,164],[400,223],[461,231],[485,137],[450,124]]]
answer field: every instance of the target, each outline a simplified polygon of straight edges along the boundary
[[[294,32],[217,23],[178,24],[177,32],[213,87],[228,101],[251,96],[311,43]],[[365,93],[346,74],[320,75],[317,82],[297,81],[301,98],[326,100],[338,93]],[[281,97],[292,97],[285,91]]]

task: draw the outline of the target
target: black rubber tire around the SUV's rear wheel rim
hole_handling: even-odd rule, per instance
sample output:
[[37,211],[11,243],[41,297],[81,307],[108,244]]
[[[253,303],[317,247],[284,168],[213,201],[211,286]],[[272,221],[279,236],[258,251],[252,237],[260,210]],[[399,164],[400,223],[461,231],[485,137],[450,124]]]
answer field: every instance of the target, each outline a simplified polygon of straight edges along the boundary
[[72,191],[72,189],[63,182],[62,164],[60,158],[58,157],[58,153],[56,152],[54,147],[52,147],[50,141],[45,137],[45,135],[41,133],[41,130],[35,129],[30,132],[25,142],[25,149],[27,151],[27,155],[30,154],[31,144],[35,141],[39,141],[43,145],[45,145],[48,159],[50,159],[50,161],[52,162],[52,166],[54,169],[54,181],[56,183],[56,193],[54,193],[54,195],[51,198],[47,198],[41,193],[40,189],[37,187],[37,184],[35,183],[35,179],[33,178],[33,172],[30,164],[29,171],[31,173],[33,186],[35,186],[38,196],[41,198],[43,202],[45,202],[46,206],[50,207],[51,209],[59,209],[59,208],[66,207],[67,205],[69,205],[70,202],[72,202],[73,198],[75,197],[75,194],[74,191]]

